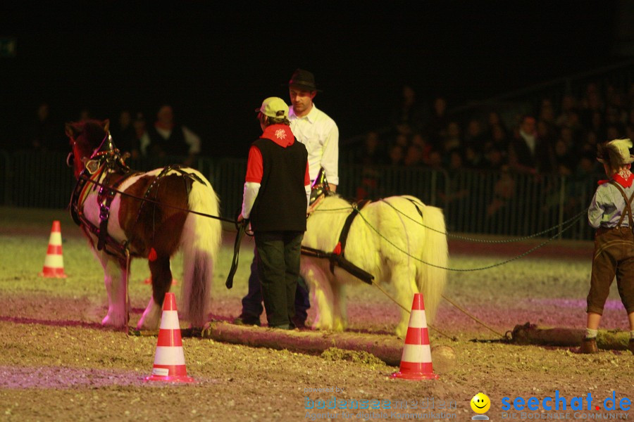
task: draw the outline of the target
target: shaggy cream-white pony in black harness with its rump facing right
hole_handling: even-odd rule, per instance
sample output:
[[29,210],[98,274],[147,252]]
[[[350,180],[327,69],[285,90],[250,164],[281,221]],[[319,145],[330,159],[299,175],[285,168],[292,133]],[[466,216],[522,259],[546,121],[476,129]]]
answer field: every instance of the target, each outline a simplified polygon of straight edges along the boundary
[[[326,196],[314,207],[306,224],[302,246],[332,252],[352,205],[339,196]],[[349,226],[344,258],[375,278],[392,283],[394,298],[411,309],[414,293],[423,293],[425,316],[430,323],[447,281],[445,217],[437,207],[424,205],[413,196],[392,196],[368,203]],[[431,265],[430,265],[431,264]],[[330,260],[302,255],[301,274],[311,289],[316,306],[313,328],[343,331],[347,328],[346,285],[361,283]],[[368,288],[373,288],[368,286]],[[387,300],[387,298],[386,298]],[[409,312],[401,311],[396,334],[404,336]]]

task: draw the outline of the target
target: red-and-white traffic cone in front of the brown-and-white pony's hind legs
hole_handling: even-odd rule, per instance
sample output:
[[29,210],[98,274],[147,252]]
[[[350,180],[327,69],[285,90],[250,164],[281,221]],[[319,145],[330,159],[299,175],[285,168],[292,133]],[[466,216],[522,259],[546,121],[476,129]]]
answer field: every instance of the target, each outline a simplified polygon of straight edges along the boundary
[[180,324],[176,310],[174,293],[166,293],[159,329],[159,342],[156,344],[154,369],[145,381],[168,381],[170,383],[193,383],[194,378],[187,376],[185,353],[182,351]]

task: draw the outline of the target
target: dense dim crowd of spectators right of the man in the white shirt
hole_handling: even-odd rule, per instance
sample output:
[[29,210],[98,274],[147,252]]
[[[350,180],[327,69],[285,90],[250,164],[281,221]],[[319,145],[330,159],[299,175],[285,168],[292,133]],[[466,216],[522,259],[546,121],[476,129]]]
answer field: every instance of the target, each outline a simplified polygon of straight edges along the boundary
[[344,162],[421,166],[453,171],[511,170],[528,174],[586,174],[595,169],[597,143],[634,136],[634,85],[627,92],[596,83],[583,96],[560,103],[542,98],[536,109],[511,121],[499,110],[462,118],[447,114],[437,96],[428,106],[403,88],[389,131],[371,130],[343,151]]

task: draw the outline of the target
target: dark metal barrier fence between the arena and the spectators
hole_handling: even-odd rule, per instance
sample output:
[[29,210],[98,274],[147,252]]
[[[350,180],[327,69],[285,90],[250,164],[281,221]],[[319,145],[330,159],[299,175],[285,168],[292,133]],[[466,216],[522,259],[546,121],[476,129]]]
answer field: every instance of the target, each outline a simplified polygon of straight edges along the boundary
[[[182,162],[165,157],[128,160],[135,170],[149,171]],[[75,185],[66,155],[0,151],[1,205],[65,208]],[[199,158],[194,163],[220,198],[220,215],[237,216],[247,161]],[[557,226],[588,207],[596,176],[559,177],[512,172],[463,170],[445,172],[420,167],[344,165],[337,193],[354,201],[411,195],[443,208],[447,230],[454,233],[530,236]],[[544,236],[552,236],[557,231]],[[590,239],[592,229],[580,219],[564,238]]]

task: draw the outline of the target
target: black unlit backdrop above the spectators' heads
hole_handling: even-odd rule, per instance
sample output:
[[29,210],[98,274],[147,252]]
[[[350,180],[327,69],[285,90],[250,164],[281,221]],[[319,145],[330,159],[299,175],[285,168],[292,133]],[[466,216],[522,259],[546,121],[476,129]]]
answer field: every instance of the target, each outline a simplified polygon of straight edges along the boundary
[[311,70],[319,108],[342,140],[383,126],[400,88],[449,107],[623,60],[612,53],[614,1],[89,1],[0,6],[0,149],[47,101],[59,122],[82,108],[153,121],[163,102],[207,155],[246,154],[253,110],[288,102],[295,68]]

